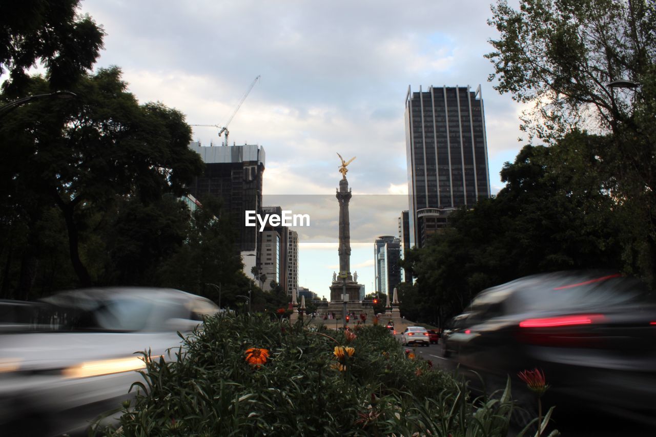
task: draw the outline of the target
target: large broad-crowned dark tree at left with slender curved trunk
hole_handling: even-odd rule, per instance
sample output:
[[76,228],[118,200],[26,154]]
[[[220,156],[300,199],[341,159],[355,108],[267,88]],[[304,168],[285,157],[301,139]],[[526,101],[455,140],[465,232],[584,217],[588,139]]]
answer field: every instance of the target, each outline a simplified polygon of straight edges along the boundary
[[[29,85],[33,94],[48,87],[38,76]],[[83,75],[72,91],[79,97],[39,100],[5,117],[0,147],[10,159],[1,189],[32,216],[30,229],[44,206],[58,207],[73,270],[79,285],[89,286],[94,278],[79,249],[90,218],[121,196],[144,204],[167,193],[181,196],[203,163],[188,148],[184,115],[159,103],[140,106],[118,68]]]

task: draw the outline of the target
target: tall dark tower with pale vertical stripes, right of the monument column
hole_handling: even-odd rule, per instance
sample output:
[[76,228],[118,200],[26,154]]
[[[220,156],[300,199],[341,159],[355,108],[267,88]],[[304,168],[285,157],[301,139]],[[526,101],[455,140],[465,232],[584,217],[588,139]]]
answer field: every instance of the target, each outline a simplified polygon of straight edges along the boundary
[[451,211],[490,196],[481,87],[408,87],[405,144],[410,243],[422,247]]

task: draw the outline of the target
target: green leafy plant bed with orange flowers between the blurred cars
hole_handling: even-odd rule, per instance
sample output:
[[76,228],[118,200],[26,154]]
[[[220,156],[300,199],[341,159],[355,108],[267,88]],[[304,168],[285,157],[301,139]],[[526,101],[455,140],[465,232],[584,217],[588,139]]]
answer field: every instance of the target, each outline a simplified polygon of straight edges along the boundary
[[[216,316],[173,360],[148,361],[112,436],[505,436],[513,404],[469,398],[466,385],[406,356],[382,326],[343,331],[266,317]],[[335,346],[354,348],[337,368]],[[265,348],[268,360],[245,361]],[[136,388],[136,387],[135,387]]]

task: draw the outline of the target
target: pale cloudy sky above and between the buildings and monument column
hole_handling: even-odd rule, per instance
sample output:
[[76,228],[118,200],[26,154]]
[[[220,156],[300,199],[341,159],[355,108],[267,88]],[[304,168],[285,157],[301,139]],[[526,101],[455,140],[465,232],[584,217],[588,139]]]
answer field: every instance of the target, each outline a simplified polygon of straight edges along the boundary
[[[487,1],[83,0],[80,12],[107,33],[97,66],[120,66],[140,102],[163,102],[188,123],[224,125],[260,75],[229,130],[230,144],[265,148],[265,196],[334,196],[339,152],[357,156],[348,180],[354,194],[367,195],[363,205],[386,195],[385,205],[402,207],[409,85],[482,86],[493,193],[502,187],[502,164],[521,146],[522,108],[487,81],[493,68],[483,54],[496,37]],[[217,134],[194,128],[202,144],[219,144]],[[367,216],[351,232],[352,270],[367,293],[373,238],[398,233],[400,209],[389,211]],[[300,285],[328,295],[337,227],[332,243],[305,234]]]

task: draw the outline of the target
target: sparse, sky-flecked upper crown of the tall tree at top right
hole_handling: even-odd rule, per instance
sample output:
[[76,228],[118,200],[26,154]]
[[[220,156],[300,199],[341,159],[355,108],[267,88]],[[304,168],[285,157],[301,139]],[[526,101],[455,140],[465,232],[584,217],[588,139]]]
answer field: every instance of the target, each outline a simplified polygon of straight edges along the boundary
[[[523,129],[545,140],[579,128],[617,131],[630,102],[607,86],[653,75],[656,8],[645,0],[506,0],[489,20],[495,89],[534,105]],[[653,95],[640,96],[642,100]]]

